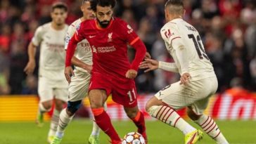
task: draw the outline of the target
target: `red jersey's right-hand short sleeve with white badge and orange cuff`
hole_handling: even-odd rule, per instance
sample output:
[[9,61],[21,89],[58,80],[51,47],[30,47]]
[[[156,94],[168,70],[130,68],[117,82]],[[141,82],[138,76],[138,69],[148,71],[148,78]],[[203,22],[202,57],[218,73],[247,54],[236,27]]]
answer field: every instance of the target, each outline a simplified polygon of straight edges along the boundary
[[136,32],[134,32],[134,30],[132,29],[132,27],[127,24],[127,22],[124,22],[123,20],[120,21],[120,32],[122,32],[122,35],[124,36],[125,41],[127,41],[127,43],[129,43],[131,46],[139,40],[138,35],[136,34]]

